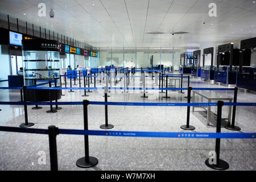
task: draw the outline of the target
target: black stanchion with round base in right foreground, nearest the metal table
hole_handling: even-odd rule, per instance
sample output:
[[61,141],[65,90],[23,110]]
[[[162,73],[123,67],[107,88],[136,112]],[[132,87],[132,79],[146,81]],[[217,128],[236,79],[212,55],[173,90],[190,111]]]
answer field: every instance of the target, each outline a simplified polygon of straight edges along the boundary
[[[218,101],[217,105],[217,127],[216,127],[216,133],[221,133],[221,113],[222,113],[222,106],[224,105],[223,101]],[[212,168],[212,169],[218,169],[218,170],[226,170],[229,168],[229,164],[225,162],[224,160],[220,159],[220,138],[216,138],[216,144],[215,144],[215,152],[216,152],[216,160],[212,158],[209,158],[205,160],[205,164]]]

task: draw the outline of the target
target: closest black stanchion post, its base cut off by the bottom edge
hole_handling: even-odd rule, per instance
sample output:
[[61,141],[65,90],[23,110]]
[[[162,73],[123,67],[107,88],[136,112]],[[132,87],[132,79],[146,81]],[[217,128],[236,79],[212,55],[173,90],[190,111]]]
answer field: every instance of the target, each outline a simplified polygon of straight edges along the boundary
[[51,171],[58,171],[57,142],[56,142],[56,136],[58,134],[59,134],[59,128],[55,126],[48,127]]

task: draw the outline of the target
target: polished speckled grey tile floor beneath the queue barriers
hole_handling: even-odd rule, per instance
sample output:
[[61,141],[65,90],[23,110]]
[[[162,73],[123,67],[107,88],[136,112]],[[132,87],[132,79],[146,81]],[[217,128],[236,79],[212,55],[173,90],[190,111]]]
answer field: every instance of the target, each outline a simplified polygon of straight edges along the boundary
[[[140,73],[136,74],[137,76]],[[119,80],[119,78],[118,78]],[[139,87],[140,78],[131,78],[130,87]],[[154,86],[155,80],[146,78],[148,88]],[[112,86],[123,86],[123,80]],[[96,86],[102,86],[97,81]],[[165,85],[165,84],[164,84]],[[184,84],[187,85],[187,79]],[[69,82],[68,82],[69,86]],[[93,86],[91,84],[90,86]],[[110,84],[109,84],[110,86]],[[209,82],[191,79],[190,86],[200,88],[225,88],[224,86],[209,84]],[[176,85],[178,87],[178,85]],[[171,98],[162,98],[159,90],[148,90],[146,96],[141,90],[111,90],[108,101],[119,102],[187,102],[185,94],[169,91]],[[220,94],[233,96],[233,91],[219,91]],[[65,96],[59,101],[104,101],[104,90],[93,90],[89,97],[81,97],[84,90],[69,93],[63,90]],[[196,96],[192,102],[200,102]],[[0,101],[19,101],[19,92],[1,90]],[[206,100],[204,100],[206,102]],[[255,94],[238,91],[238,102],[256,102]],[[54,114],[47,114],[49,106],[41,110],[31,110],[28,106],[28,121],[35,123],[32,128],[47,129],[55,125],[60,129],[83,129],[83,113],[81,105],[61,106],[62,110]],[[1,105],[0,126],[15,126],[24,122],[23,106]],[[192,111],[192,109],[191,109]],[[230,131],[222,127],[222,132],[255,132],[255,107],[237,107],[236,125],[241,131]],[[217,108],[212,107],[212,119],[207,126],[207,113],[197,108],[191,112],[190,122],[196,129],[184,131],[187,107],[152,107],[152,106],[109,106],[109,123],[114,125],[112,130],[118,131],[163,131],[163,132],[216,132],[214,117]],[[89,105],[89,129],[101,130],[105,123],[104,106]],[[222,118],[228,117],[228,107],[224,106]],[[173,139],[173,138],[126,138],[89,136],[90,156],[98,159],[96,167],[83,169],[76,166],[76,160],[84,156],[84,137],[76,135],[58,135],[57,152],[59,170],[212,170],[205,165],[208,153],[215,148],[214,139]],[[46,163],[42,164],[42,154],[46,154]],[[256,169],[255,139],[221,139],[221,159],[229,163],[229,170]],[[0,132],[0,170],[49,170],[48,136],[40,134],[20,134]]]

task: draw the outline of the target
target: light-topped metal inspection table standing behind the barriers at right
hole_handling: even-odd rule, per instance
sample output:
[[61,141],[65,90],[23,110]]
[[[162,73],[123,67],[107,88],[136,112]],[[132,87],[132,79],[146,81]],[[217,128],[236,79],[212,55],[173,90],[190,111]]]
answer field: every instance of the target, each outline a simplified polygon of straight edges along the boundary
[[[192,97],[195,100],[195,94],[198,94],[199,96],[201,96],[201,102],[203,102],[203,98],[206,98],[208,102],[212,102],[212,101],[229,101],[232,102],[233,101],[233,97],[230,96],[223,96],[222,94],[220,94],[219,91],[214,91],[214,90],[192,90]],[[196,107],[202,107],[204,108],[205,106],[196,106]],[[207,110],[207,125],[210,125],[210,106],[206,106],[208,107]],[[195,111],[195,106],[192,107],[192,112]],[[229,114],[228,114],[228,122],[231,121],[231,106],[229,106]]]

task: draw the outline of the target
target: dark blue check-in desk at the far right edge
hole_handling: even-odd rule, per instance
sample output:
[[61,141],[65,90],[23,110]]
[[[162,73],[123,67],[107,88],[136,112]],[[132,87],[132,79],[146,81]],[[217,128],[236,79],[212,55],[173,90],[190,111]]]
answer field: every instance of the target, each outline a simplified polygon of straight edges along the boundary
[[242,67],[242,73],[237,73],[237,87],[256,91],[256,67]]

